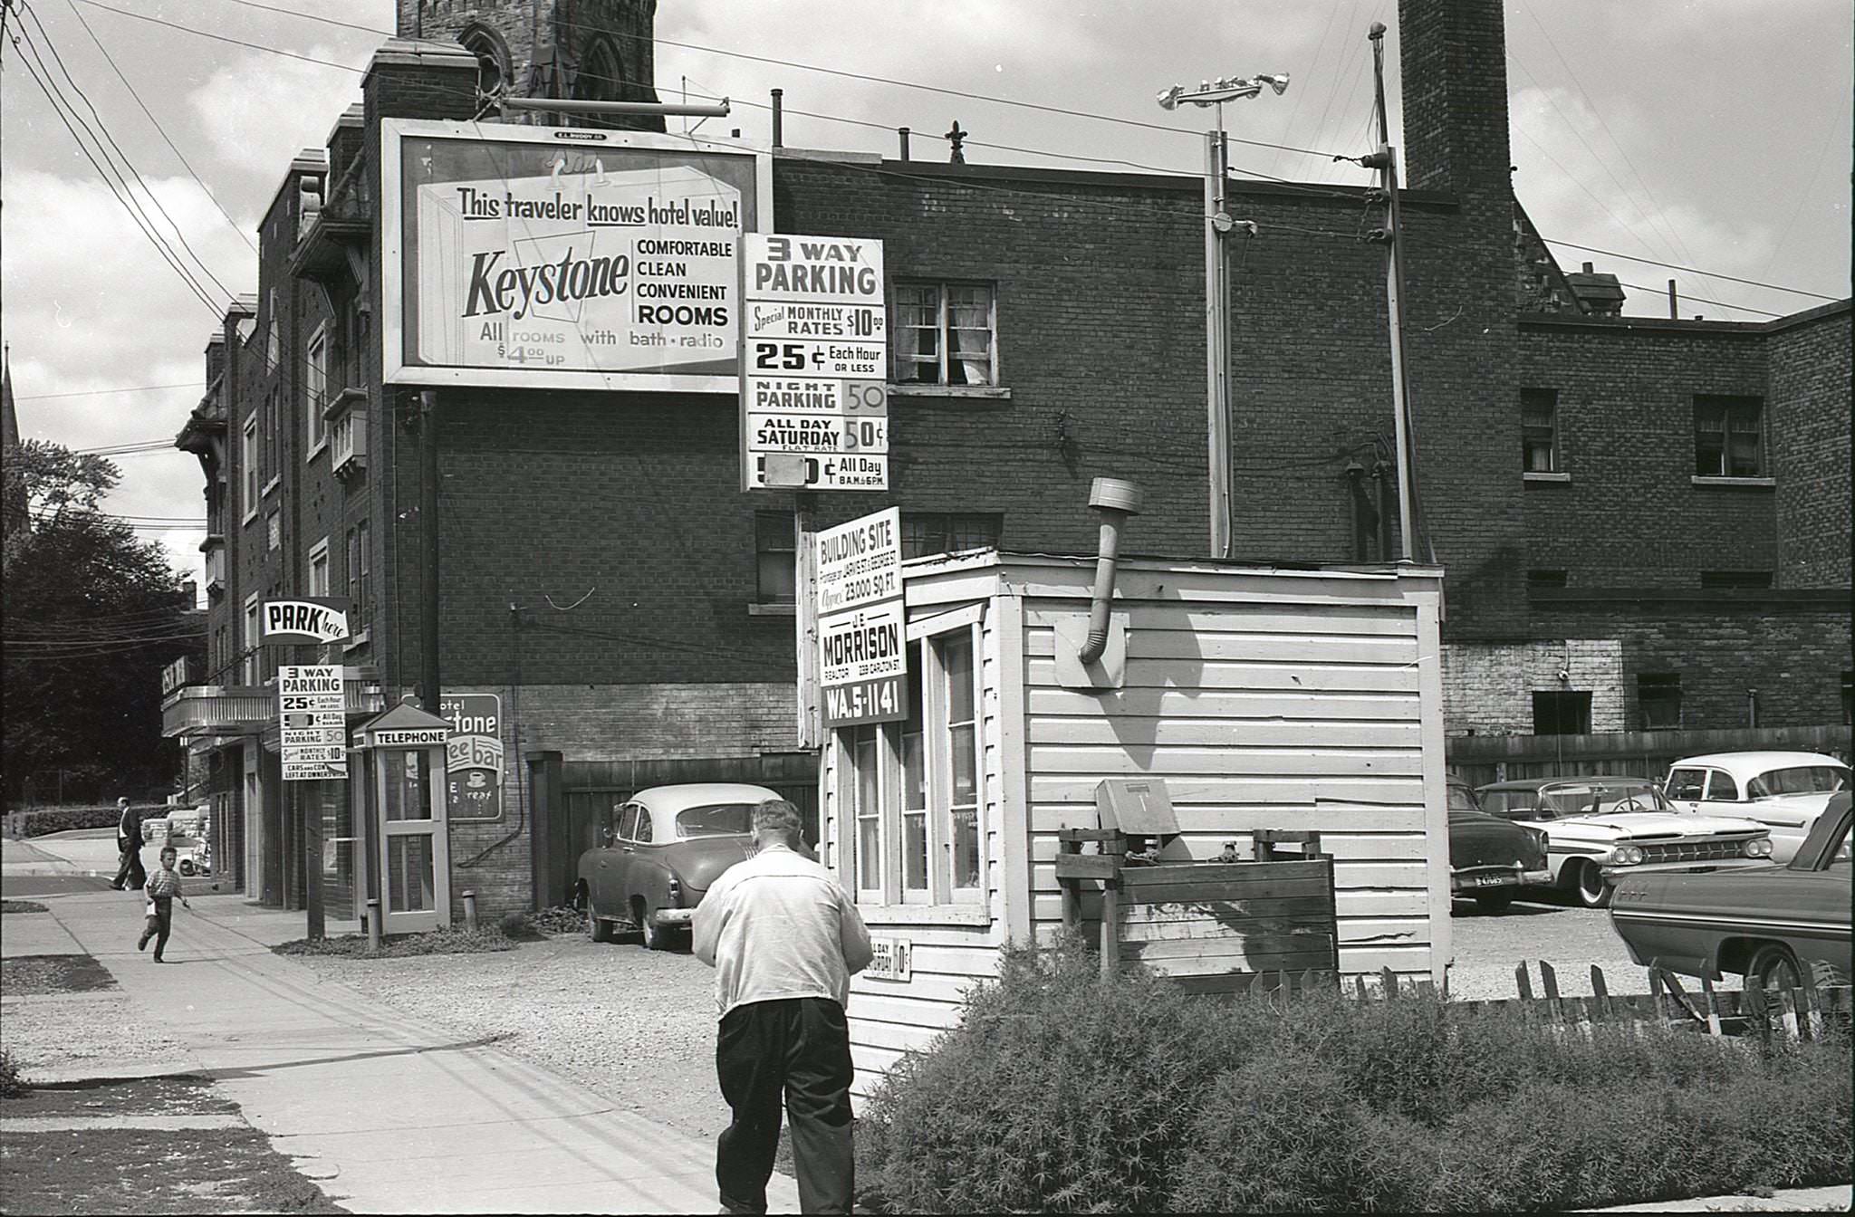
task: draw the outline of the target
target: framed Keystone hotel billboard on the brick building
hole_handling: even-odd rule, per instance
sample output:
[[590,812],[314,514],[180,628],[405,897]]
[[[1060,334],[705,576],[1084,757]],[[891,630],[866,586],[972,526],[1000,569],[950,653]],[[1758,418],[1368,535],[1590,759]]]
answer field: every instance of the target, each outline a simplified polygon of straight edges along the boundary
[[766,152],[414,119],[380,141],[388,382],[736,390]]

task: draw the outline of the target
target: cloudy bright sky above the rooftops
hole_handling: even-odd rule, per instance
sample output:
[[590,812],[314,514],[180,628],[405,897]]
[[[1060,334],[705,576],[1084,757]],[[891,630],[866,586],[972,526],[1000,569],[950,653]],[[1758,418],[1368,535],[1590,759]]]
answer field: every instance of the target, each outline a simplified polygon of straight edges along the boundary
[[[256,288],[249,243],[291,154],[321,147],[341,109],[360,100],[358,70],[308,59],[360,69],[380,41],[304,15],[390,33],[393,4],[256,0],[288,15],[239,0],[30,4],[43,30],[17,15],[9,22],[0,98],[0,315],[20,430],[76,449],[171,440],[204,390],[200,352],[224,293]],[[1514,182],[1540,230],[1710,275],[1564,247],[1554,250],[1560,265],[1590,260],[1642,284],[1627,312],[1647,315],[1666,315],[1670,276],[1688,297],[1682,315],[1738,321],[1849,293],[1849,0],[1506,0],[1504,7]],[[796,147],[894,156],[894,128],[909,126],[915,158],[940,160],[946,143],[931,135],[957,119],[972,134],[968,161],[1198,173],[1196,134],[1209,113],[1163,113],[1154,93],[1174,82],[1287,72],[1293,85],[1284,96],[1226,108],[1234,137],[1326,154],[1367,150],[1373,20],[1391,26],[1397,139],[1397,0],[660,0],[657,87],[664,100],[675,100],[684,82],[692,100],[735,98],[733,117],[709,119],[703,134],[740,128],[749,141],[770,137],[768,89],[781,87],[785,141]],[[37,61],[30,46],[11,45],[20,26],[56,85],[72,98],[72,82],[83,91],[89,104],[78,100],[78,109],[108,130],[154,191],[165,215],[145,200],[150,221],[169,239],[169,224],[178,228],[206,263],[210,275],[195,267],[195,276],[211,310],[137,230],[24,70]],[[1232,148],[1232,165],[1302,182],[1367,180],[1330,156],[1245,145]],[[143,386],[173,388],[121,391]],[[163,540],[176,566],[197,573],[204,531],[186,523],[204,516],[195,458],[160,451],[119,464],[122,486],[109,508],[145,521],[143,536]],[[171,521],[180,527],[158,527]]]

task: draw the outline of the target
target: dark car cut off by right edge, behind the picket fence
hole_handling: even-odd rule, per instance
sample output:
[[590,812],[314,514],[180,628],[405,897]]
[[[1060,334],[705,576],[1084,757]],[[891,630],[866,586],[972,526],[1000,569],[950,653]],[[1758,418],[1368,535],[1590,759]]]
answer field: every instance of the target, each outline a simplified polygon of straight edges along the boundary
[[1640,965],[1747,983],[1797,983],[1827,965],[1849,976],[1849,794],[1831,798],[1786,866],[1710,876],[1631,876],[1610,924]]

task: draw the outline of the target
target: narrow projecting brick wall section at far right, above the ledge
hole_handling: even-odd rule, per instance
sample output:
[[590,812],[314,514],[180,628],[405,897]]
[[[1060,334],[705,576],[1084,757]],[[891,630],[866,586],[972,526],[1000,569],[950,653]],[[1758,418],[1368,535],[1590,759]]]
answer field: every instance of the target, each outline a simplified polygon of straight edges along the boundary
[[1849,306],[1781,323],[1770,345],[1777,584],[1849,586]]

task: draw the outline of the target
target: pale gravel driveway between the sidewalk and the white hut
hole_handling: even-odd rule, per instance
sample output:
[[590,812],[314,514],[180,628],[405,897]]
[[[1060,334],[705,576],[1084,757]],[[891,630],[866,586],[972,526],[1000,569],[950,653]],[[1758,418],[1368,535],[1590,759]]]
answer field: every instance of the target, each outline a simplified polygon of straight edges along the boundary
[[560,935],[512,952],[410,959],[293,957],[462,1039],[564,1074],[694,1135],[727,1128],[714,1082],[714,972],[683,950]]

